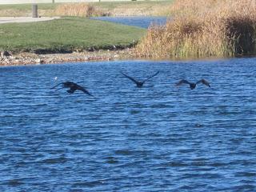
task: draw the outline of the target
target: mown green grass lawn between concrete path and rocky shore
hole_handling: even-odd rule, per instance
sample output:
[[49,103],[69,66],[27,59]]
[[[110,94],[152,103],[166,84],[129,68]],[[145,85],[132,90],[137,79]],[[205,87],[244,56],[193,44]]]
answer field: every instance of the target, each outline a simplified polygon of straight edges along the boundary
[[0,50],[88,50],[111,46],[130,46],[146,30],[90,20],[61,18],[47,22],[8,23],[0,25]]

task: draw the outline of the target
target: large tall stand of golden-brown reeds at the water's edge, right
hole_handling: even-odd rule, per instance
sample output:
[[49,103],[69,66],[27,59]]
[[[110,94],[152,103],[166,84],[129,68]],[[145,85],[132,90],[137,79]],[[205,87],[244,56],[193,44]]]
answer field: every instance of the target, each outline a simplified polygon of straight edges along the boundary
[[252,0],[176,0],[166,26],[150,26],[136,47],[140,57],[206,58],[255,54]]

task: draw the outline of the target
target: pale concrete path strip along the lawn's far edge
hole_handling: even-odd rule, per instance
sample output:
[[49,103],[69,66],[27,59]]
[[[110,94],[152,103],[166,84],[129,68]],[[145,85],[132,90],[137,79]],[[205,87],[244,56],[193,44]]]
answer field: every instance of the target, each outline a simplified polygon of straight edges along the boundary
[[43,22],[49,21],[60,17],[52,18],[32,18],[32,17],[0,17],[0,24],[8,22]]

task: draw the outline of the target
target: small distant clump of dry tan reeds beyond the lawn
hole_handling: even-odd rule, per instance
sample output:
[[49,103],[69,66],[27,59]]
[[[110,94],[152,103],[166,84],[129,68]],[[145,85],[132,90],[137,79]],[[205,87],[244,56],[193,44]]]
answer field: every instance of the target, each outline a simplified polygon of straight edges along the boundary
[[59,16],[93,17],[108,15],[103,10],[96,9],[94,6],[81,3],[60,4],[56,7],[55,14]]

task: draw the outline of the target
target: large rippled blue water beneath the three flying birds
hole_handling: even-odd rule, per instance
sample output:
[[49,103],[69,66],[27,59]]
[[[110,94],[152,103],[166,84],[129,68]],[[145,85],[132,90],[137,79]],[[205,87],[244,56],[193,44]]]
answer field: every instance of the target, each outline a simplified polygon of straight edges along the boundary
[[0,191],[256,191],[255,62],[1,67]]

